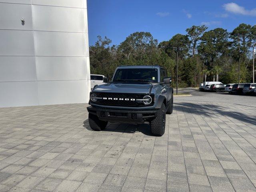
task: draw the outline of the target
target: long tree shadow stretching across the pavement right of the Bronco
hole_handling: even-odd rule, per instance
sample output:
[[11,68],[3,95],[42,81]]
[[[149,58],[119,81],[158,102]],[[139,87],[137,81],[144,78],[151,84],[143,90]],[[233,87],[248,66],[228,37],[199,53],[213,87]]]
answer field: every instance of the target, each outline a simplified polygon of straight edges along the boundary
[[[256,124],[256,115],[247,115],[237,110],[231,109],[228,110],[226,107],[218,106],[215,104],[208,103],[188,103],[188,102],[180,102],[176,103],[176,111],[177,112],[189,112],[192,114],[206,115],[211,118],[216,118],[218,116],[225,116],[227,118],[234,118],[239,120],[240,122]],[[240,106],[238,106],[240,107]],[[254,108],[247,106],[248,108]],[[255,110],[255,109],[253,109]]]

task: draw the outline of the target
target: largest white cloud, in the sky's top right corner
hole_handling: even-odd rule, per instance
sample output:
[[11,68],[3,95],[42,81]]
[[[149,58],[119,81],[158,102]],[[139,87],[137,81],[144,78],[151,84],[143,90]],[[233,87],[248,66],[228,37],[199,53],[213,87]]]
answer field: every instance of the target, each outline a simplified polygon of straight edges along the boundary
[[226,11],[234,13],[234,14],[256,16],[256,8],[254,8],[252,10],[246,10],[244,7],[239,6],[238,4],[233,3],[233,2],[224,4],[223,7]]

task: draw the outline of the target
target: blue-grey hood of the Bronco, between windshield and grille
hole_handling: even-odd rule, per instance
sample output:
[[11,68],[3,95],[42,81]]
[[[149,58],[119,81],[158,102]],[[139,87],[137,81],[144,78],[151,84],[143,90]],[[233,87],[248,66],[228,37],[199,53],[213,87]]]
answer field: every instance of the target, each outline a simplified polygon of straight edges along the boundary
[[106,93],[149,93],[152,84],[108,83],[96,86],[93,92]]

